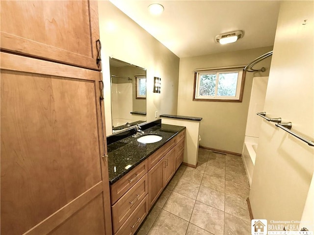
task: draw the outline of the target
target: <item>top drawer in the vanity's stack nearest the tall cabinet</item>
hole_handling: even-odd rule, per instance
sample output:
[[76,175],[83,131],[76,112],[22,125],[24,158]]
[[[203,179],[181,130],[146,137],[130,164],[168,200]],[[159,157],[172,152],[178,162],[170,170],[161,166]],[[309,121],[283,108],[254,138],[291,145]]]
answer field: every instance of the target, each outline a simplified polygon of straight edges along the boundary
[[147,173],[147,159],[110,186],[111,205],[125,194],[136,182]]

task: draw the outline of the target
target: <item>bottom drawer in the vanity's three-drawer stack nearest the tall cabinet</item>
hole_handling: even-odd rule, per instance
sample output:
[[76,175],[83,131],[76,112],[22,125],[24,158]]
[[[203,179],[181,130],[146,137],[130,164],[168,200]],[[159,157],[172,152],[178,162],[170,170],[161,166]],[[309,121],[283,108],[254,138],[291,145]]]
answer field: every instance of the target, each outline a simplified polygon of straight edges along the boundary
[[131,213],[127,221],[121,226],[115,235],[133,235],[148,213],[148,195],[140,202]]

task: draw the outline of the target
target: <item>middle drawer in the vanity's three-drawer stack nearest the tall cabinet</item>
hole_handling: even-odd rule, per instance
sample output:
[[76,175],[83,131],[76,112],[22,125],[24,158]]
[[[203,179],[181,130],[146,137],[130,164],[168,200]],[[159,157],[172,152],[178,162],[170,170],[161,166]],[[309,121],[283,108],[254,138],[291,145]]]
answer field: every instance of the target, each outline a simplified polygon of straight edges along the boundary
[[113,233],[128,219],[137,205],[148,192],[147,174],[145,174],[126,194],[112,206]]

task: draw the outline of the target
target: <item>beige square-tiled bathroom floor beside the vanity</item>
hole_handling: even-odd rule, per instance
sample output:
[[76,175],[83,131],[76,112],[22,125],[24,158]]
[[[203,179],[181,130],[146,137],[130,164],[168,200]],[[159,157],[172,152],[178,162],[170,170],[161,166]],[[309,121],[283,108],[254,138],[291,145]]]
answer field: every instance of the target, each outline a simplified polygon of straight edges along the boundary
[[137,235],[251,235],[241,157],[200,148],[198,160],[180,166]]

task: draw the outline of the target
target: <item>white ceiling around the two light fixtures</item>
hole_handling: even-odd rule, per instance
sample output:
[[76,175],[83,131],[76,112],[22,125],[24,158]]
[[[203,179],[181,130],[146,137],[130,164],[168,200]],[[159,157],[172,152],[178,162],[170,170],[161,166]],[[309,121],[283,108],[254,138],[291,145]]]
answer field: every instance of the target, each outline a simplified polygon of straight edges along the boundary
[[[276,0],[110,0],[178,57],[273,46],[280,1]],[[164,6],[152,16],[148,5]],[[215,43],[216,35],[242,30],[235,43]]]

